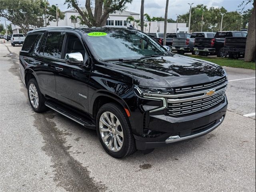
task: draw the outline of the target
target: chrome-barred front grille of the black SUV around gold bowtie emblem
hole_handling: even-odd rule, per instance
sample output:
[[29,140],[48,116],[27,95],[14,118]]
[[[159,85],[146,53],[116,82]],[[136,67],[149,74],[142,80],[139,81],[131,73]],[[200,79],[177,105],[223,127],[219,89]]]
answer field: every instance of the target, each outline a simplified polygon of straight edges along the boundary
[[[215,108],[224,102],[226,87],[227,81],[225,77],[208,84],[175,88],[178,98],[168,99],[166,114],[180,117]],[[214,90],[214,94],[207,96],[207,92],[211,90]]]

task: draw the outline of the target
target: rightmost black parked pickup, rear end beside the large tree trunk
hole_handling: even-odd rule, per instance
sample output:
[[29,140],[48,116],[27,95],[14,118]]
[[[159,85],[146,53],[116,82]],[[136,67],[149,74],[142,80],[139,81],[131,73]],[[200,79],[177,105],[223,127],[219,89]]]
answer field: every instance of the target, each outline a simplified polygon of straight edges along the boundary
[[224,42],[224,51],[229,58],[244,58],[246,37],[227,37]]

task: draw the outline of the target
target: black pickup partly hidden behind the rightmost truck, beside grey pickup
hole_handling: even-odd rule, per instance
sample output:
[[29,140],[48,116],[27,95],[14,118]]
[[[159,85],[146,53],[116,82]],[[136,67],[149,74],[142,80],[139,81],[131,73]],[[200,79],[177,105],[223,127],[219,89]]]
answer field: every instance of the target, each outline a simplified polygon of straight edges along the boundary
[[209,54],[218,57],[226,57],[227,52],[224,51],[224,42],[226,37],[246,37],[247,32],[241,31],[223,31],[217,32],[214,38],[195,38],[194,52],[208,56]]

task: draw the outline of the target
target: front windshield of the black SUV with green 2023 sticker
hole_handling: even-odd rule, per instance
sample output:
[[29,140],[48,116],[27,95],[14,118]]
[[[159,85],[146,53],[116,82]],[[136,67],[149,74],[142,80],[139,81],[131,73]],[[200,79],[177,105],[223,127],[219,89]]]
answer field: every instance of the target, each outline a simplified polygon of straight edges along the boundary
[[85,36],[101,60],[140,59],[168,54],[155,40],[139,31],[107,28],[95,30],[86,32]]

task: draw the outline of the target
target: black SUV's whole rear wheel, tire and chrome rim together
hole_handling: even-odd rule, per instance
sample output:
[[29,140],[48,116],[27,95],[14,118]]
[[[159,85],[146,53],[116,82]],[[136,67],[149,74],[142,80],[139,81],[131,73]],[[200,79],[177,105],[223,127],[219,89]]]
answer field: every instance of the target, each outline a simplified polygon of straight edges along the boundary
[[48,110],[44,105],[45,98],[40,92],[38,83],[34,78],[30,79],[28,82],[28,100],[35,112],[42,113]]

